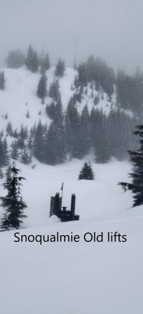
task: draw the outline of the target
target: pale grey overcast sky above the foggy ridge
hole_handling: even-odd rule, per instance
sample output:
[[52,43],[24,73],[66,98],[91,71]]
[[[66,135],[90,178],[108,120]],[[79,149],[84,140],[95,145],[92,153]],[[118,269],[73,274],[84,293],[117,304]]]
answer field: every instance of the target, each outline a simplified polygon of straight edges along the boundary
[[73,65],[90,54],[115,70],[143,70],[143,0],[0,0],[0,63],[5,54],[29,43]]

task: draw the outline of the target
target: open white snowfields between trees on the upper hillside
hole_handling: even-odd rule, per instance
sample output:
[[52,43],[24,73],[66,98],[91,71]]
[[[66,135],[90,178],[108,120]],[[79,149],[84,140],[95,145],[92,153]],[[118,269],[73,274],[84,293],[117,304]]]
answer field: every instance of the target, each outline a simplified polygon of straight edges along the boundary
[[[51,67],[46,71],[48,77],[47,88],[49,89],[50,83],[54,79],[55,67]],[[41,104],[41,100],[36,95],[37,85],[40,78],[40,73],[32,73],[26,68],[20,69],[4,69],[5,73],[5,90],[0,90],[0,125],[5,128],[7,121],[11,122],[12,125],[19,128],[22,123],[27,125],[28,128],[38,122],[39,118],[42,119],[43,123],[49,124],[48,116],[45,112],[45,105]],[[77,74],[72,68],[67,68],[63,78],[59,78],[60,92],[62,98],[63,109],[66,109],[67,104],[73,95],[74,91],[71,90],[71,84],[73,85],[75,75]],[[94,96],[97,92],[94,90]],[[114,95],[113,95],[114,97]],[[115,97],[114,97],[115,98]],[[46,97],[45,104],[51,102],[50,97]],[[79,111],[82,110],[83,106],[87,103],[89,110],[92,109],[94,101],[91,98],[91,88],[88,87],[88,93],[82,99],[82,104],[78,104]],[[104,93],[104,99],[99,101],[96,106],[103,108],[104,111],[110,110],[111,103],[109,102],[108,96]],[[26,118],[26,112],[29,110],[30,118]],[[39,111],[42,114],[39,116]],[[4,117],[8,113],[8,120]]]

